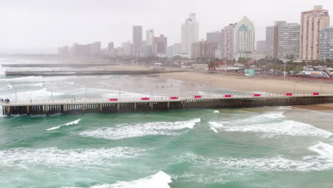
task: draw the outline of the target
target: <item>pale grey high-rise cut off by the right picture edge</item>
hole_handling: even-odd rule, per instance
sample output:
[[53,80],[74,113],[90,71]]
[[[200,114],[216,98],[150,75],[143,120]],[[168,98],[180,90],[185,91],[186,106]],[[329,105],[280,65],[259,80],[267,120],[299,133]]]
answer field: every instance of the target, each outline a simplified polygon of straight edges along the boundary
[[320,31],[319,60],[333,59],[333,27]]

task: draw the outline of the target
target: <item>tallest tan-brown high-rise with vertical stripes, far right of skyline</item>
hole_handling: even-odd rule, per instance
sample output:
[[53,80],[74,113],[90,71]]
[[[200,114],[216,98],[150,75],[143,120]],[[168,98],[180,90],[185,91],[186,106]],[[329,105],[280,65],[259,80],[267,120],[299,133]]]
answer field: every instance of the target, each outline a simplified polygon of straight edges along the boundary
[[312,11],[301,13],[300,58],[302,60],[319,59],[320,31],[329,27],[329,12],[322,6],[314,6]]

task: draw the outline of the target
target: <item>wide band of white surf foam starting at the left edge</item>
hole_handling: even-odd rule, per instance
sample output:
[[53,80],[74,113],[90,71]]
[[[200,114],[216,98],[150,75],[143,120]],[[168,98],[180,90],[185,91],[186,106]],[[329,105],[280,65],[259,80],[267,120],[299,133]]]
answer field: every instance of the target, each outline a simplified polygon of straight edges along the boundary
[[41,149],[14,148],[0,150],[1,167],[23,167],[46,165],[53,167],[102,168],[116,165],[119,160],[143,155],[146,150],[134,147],[110,149],[60,150],[57,147]]

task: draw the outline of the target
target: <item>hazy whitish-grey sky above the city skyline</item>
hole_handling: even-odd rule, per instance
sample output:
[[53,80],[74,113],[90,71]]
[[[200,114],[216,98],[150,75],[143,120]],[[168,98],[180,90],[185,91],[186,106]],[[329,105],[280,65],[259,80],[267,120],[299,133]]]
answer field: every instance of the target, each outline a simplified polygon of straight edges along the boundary
[[[221,31],[243,16],[255,24],[255,40],[265,40],[265,27],[275,20],[300,23],[300,12],[332,0],[0,0],[0,52],[49,53],[58,46],[132,41],[132,26],[154,28],[168,45],[179,43],[181,23],[190,12],[200,23],[200,38]],[[333,12],[330,12],[333,15]],[[331,21],[332,26],[332,21]]]

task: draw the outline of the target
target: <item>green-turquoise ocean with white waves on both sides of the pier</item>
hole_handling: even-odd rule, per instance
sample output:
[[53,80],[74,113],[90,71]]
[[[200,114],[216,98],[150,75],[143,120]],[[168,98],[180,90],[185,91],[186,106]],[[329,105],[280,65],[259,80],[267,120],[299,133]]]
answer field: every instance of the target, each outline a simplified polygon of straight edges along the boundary
[[[5,77],[0,68],[0,98],[11,100],[226,93],[249,94],[142,75]],[[333,184],[330,111],[281,106],[11,117],[0,113],[0,187]]]

